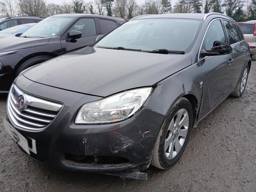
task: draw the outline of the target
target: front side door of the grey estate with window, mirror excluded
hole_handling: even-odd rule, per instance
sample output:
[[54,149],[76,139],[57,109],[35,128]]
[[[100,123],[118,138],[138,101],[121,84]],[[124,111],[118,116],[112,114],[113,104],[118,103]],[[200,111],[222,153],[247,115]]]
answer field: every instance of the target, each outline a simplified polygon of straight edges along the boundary
[[[210,50],[214,41],[228,43],[220,20],[214,20],[208,27],[202,44],[202,49]],[[201,57],[199,59],[204,78],[202,102],[198,116],[199,120],[206,116],[227,97],[233,60],[233,53],[204,58]]]

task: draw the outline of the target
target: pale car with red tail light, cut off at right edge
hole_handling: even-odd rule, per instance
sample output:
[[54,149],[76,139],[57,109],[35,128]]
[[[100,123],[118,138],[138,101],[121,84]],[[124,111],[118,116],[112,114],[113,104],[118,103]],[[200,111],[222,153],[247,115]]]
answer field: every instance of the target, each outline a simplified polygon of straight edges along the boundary
[[251,20],[247,22],[238,22],[237,23],[243,34],[244,39],[250,46],[250,55],[252,60],[256,60],[256,20]]

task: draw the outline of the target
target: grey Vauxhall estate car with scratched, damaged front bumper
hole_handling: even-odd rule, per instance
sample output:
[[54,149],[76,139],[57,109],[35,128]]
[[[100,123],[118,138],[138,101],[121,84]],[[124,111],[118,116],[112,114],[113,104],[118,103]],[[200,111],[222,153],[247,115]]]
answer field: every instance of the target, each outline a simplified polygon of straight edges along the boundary
[[49,166],[146,179],[140,170],[170,168],[192,127],[242,96],[250,66],[227,16],[142,15],[24,70],[4,125],[24,154]]

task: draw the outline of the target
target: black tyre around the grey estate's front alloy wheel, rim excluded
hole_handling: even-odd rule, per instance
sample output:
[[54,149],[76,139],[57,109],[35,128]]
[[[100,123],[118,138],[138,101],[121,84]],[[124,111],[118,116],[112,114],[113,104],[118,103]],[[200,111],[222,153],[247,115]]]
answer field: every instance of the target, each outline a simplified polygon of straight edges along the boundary
[[[168,128],[169,128],[169,125],[170,125],[172,119],[175,118],[175,115],[181,109],[185,109],[188,114],[188,117],[189,117],[187,135],[186,135],[185,141],[184,141],[183,146],[181,147],[180,151],[176,154],[176,156],[174,158],[168,159],[166,157],[166,151],[164,149],[166,136],[168,134]],[[168,116],[166,117],[166,120],[158,134],[158,138],[157,138],[156,144],[154,146],[152,160],[151,160],[151,164],[153,166],[160,168],[160,169],[169,169],[180,159],[180,157],[181,157],[182,153],[184,152],[184,149],[186,148],[186,145],[188,143],[190,130],[192,128],[192,123],[193,123],[192,106],[186,98],[182,97],[177,100],[177,102],[174,104],[174,106],[172,106],[172,109],[170,110]]]

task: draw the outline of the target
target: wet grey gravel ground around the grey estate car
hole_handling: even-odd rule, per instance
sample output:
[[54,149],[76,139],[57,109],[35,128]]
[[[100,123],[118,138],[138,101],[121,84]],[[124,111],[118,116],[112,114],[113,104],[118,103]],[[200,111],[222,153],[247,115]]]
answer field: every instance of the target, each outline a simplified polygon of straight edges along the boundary
[[[241,98],[227,98],[190,135],[170,170],[150,166],[148,180],[63,172],[31,160],[16,148],[0,119],[0,191],[256,191],[256,62]],[[0,95],[5,116],[6,95]]]

